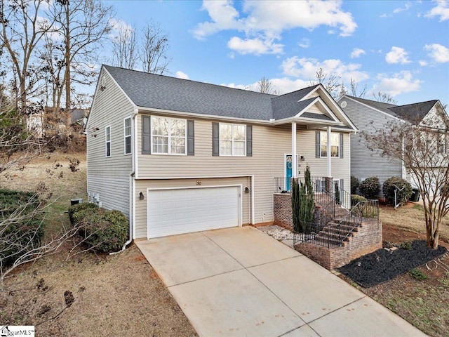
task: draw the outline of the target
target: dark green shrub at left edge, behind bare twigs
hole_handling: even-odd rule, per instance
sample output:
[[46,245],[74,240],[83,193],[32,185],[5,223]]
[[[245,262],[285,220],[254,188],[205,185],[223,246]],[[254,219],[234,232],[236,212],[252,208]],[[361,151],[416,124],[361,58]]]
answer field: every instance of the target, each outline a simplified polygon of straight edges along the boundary
[[[43,201],[33,192],[0,190],[1,267],[41,245],[44,234]],[[14,221],[7,219],[12,216]]]

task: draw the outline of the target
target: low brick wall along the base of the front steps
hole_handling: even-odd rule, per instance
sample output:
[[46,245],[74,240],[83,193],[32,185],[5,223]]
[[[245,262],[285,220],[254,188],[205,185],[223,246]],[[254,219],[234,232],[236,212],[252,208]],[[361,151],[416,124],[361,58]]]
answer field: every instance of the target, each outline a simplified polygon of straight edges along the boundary
[[373,253],[382,248],[382,222],[362,223],[358,232],[354,232],[346,246],[325,247],[317,244],[298,243],[295,249],[311,258],[328,270],[334,270],[346,265],[356,258]]

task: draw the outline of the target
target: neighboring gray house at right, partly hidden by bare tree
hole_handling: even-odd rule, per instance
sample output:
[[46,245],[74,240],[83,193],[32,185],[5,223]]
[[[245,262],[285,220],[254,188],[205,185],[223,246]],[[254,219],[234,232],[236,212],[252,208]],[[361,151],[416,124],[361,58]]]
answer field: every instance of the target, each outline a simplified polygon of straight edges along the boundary
[[[409,121],[415,125],[426,124],[429,120],[446,131],[449,125],[448,115],[445,113],[439,100],[429,100],[427,102],[413,103],[408,105],[393,105],[380,103],[374,100],[366,100],[349,95],[338,98],[337,103],[342,110],[354,122],[359,131],[367,133],[374,132],[375,128],[380,128],[389,121]],[[391,140],[396,141],[396,140]],[[443,143],[444,152],[447,143]],[[351,176],[359,180],[377,176],[382,184],[393,176],[408,180],[413,186],[413,174],[403,166],[401,161],[381,157],[377,152],[372,152],[366,147],[366,140],[360,135],[351,136]],[[382,191],[381,191],[382,193]]]

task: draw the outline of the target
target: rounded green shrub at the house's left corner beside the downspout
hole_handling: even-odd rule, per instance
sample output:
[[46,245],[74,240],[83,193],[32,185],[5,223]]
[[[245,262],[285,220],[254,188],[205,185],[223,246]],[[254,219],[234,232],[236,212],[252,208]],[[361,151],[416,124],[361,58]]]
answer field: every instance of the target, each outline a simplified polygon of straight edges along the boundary
[[[121,211],[84,209],[80,234],[95,251],[119,251],[128,239],[128,220]],[[81,212],[82,213],[82,212]]]

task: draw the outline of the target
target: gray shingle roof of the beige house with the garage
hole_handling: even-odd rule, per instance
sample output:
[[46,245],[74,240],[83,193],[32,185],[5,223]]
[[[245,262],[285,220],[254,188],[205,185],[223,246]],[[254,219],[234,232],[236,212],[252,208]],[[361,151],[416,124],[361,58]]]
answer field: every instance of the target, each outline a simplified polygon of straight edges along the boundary
[[[264,121],[293,117],[315,99],[302,100],[317,86],[276,96],[109,65],[103,67],[138,107],[218,117]],[[320,114],[307,117],[323,119]]]

